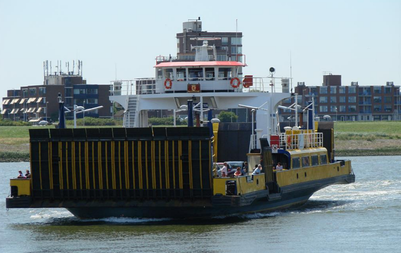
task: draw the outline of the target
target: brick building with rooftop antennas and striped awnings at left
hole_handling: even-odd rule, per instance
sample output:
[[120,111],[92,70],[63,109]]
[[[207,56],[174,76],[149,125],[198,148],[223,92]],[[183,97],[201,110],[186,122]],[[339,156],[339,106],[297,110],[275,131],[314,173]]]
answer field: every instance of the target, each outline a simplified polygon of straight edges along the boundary
[[[39,121],[58,117],[57,96],[61,93],[65,106],[73,109],[74,104],[86,109],[103,105],[103,108],[85,113],[91,117],[112,117],[113,108],[108,96],[110,86],[107,84],[87,84],[82,78],[82,72],[54,72],[45,74],[42,85],[22,86],[20,89],[7,91],[3,97],[2,110],[4,119]],[[66,114],[67,119],[73,118],[73,113]],[[83,113],[77,114],[82,117]]]

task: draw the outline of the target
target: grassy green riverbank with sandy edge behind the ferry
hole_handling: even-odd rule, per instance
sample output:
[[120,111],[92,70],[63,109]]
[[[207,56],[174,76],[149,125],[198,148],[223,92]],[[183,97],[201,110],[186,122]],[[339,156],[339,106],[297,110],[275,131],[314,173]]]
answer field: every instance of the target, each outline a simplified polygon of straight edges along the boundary
[[[30,128],[37,126],[0,126],[0,162],[29,161]],[[334,129],[336,156],[401,155],[401,121],[335,122]]]

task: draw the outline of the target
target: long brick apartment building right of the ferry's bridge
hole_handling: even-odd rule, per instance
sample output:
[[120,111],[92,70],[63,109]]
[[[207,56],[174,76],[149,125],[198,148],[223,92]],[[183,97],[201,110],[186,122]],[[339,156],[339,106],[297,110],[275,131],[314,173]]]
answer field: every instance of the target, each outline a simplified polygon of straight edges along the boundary
[[[329,115],[332,120],[399,120],[401,119],[401,95],[399,86],[393,82],[386,85],[362,86],[351,82],[350,86],[341,85],[341,75],[324,75],[322,86],[306,86],[298,82],[295,87],[298,94],[298,104],[302,107],[314,97],[315,117]],[[295,98],[284,100],[283,105],[289,106]],[[280,120],[288,119],[293,112],[280,109]]]

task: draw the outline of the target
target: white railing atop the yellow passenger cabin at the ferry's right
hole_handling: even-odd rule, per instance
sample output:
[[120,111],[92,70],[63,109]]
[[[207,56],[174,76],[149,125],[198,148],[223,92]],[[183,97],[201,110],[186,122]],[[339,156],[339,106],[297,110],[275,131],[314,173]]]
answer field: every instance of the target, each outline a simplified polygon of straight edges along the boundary
[[[307,132],[308,130],[292,131],[291,133],[280,133],[280,148],[302,149],[323,146],[323,133]],[[311,130],[309,130],[311,131]]]

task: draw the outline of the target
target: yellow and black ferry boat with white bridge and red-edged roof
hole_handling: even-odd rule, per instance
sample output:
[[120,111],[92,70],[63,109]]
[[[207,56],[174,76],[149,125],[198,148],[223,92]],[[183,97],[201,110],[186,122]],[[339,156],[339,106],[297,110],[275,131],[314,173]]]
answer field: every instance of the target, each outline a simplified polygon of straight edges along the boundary
[[[60,128],[30,129],[31,178],[10,179],[7,208],[62,207],[79,218],[208,218],[288,208],[323,187],[355,181],[351,161],[334,157],[333,125],[314,121],[313,101],[302,108],[295,99],[285,108],[296,125],[280,126],[281,101],[296,96],[288,78],[242,77],[241,62],[209,61],[215,48],[207,41],[194,49],[195,61],[156,64],[156,78],[113,83],[110,99],[124,106],[124,127],[63,128],[61,101]],[[276,92],[280,80],[284,92]],[[239,134],[222,134],[211,113],[240,107],[256,118],[249,134],[240,134],[249,141],[241,153],[224,144]],[[188,127],[149,127],[154,109],[186,110]],[[306,125],[298,120],[304,111]],[[218,176],[225,152],[260,163],[261,173]]]

